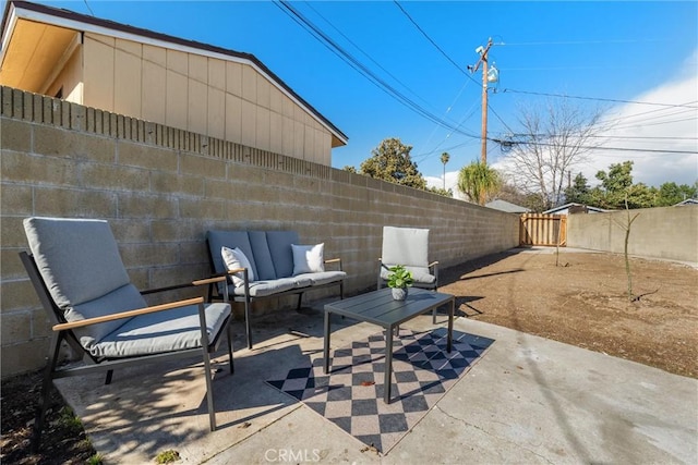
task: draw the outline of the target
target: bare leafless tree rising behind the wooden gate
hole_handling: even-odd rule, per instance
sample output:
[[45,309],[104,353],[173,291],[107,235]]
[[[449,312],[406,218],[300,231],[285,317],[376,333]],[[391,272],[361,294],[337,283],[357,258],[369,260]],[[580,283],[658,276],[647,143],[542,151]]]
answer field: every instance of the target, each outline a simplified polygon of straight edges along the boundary
[[587,160],[587,154],[600,146],[599,109],[585,111],[568,101],[543,109],[520,107],[518,121],[522,129],[513,140],[507,157],[507,171],[514,184],[527,194],[539,194],[546,207],[564,200],[566,176]]

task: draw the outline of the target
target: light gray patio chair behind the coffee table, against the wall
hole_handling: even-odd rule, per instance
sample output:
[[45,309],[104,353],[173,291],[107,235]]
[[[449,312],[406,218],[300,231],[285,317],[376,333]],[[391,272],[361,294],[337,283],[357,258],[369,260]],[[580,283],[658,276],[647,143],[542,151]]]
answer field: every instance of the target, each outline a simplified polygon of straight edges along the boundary
[[[428,229],[383,227],[377,289],[387,285],[388,270],[396,265],[402,265],[412,272],[412,286],[438,289],[438,261],[429,261]],[[436,309],[433,318],[436,322]]]

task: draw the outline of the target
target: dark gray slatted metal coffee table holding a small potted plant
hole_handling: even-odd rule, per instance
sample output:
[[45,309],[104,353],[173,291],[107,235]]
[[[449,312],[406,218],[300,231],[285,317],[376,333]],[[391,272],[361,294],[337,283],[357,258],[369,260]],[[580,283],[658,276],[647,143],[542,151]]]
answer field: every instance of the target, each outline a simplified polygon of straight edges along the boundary
[[389,287],[325,305],[325,365],[324,371],[329,371],[329,334],[332,314],[342,315],[359,321],[368,321],[385,328],[385,395],[383,400],[390,403],[390,384],[393,377],[393,332],[401,323],[411,320],[418,315],[450,303],[448,313],[448,343],[446,350],[450,353],[454,333],[454,313],[456,297],[441,292],[423,289],[410,289],[406,301],[393,299]]

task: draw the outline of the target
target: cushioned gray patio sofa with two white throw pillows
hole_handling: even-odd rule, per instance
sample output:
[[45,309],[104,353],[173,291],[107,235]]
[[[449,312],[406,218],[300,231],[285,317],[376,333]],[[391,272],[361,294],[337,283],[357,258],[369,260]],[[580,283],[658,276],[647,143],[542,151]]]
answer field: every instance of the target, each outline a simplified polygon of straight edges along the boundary
[[[324,244],[301,245],[296,231],[207,231],[214,276],[228,276],[230,301],[244,303],[248,347],[252,348],[252,302],[338,286],[344,298],[341,259],[324,259]],[[332,269],[325,269],[328,266]],[[208,297],[222,299],[224,283],[210,285]]]

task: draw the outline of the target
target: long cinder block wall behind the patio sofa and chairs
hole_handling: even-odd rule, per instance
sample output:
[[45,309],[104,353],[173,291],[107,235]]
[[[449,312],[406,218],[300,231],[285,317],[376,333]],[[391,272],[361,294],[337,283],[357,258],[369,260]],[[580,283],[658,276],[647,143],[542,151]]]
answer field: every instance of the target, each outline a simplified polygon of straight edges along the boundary
[[[348,295],[375,286],[386,224],[429,228],[430,258],[442,267],[518,245],[515,215],[16,89],[0,91],[2,377],[44,366],[50,333],[17,257],[27,247],[22,220],[29,216],[109,220],[140,289],[205,277],[208,229],[297,230],[305,244],[324,242],[327,258],[342,259]],[[269,302],[257,311],[279,304],[289,303]]]

